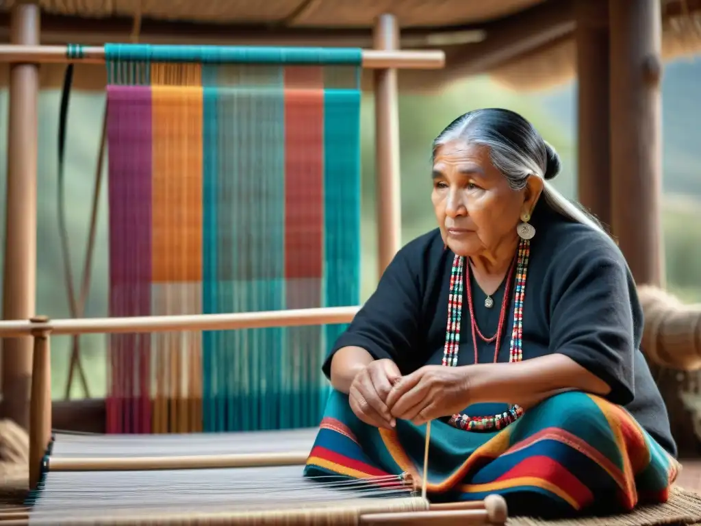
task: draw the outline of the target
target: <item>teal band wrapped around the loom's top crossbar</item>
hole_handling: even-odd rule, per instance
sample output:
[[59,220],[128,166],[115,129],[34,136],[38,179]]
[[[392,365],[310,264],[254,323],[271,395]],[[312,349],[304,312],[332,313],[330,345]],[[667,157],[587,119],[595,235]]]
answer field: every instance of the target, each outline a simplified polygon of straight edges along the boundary
[[361,65],[360,48],[280,48],[254,46],[166,46],[110,43],[110,61],[200,62],[205,64]]

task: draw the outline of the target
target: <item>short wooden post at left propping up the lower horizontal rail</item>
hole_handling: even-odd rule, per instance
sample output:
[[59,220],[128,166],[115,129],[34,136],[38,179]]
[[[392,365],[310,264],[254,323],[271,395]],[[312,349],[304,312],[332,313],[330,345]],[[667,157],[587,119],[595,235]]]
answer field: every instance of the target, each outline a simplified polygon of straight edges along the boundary
[[[46,324],[46,316],[35,316],[32,323]],[[50,330],[32,331],[34,352],[32,366],[32,403],[29,407],[29,489],[41,480],[43,457],[51,441],[51,355]]]

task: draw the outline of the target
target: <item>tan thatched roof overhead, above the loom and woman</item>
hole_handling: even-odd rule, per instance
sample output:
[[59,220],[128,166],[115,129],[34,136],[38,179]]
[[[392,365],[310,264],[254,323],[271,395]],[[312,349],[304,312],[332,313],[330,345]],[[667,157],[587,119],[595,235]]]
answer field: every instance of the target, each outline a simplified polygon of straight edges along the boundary
[[[0,41],[7,41],[0,8]],[[26,0],[25,0],[26,1]],[[521,90],[545,88],[576,74],[573,0],[38,0],[43,43],[229,43],[372,47],[381,13],[397,15],[403,48],[442,48],[440,72],[400,73],[400,87],[440,88],[488,73]],[[662,54],[667,60],[701,52],[701,0],[662,2]],[[3,22],[4,20],[4,22]],[[135,26],[135,20],[137,24]],[[0,66],[0,84],[6,83]],[[45,87],[60,86],[63,67],[44,65]],[[367,76],[369,80],[369,76]],[[81,65],[76,87],[104,87],[104,68]]]

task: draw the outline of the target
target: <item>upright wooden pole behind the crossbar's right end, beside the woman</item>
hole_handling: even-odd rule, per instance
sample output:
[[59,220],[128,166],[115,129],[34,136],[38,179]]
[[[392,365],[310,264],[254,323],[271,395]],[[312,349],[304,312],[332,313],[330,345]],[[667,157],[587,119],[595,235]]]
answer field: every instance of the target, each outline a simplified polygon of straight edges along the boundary
[[[374,48],[396,50],[399,48],[399,39],[399,27],[395,16],[381,15],[376,20]],[[377,257],[378,275],[381,276],[402,245],[397,70],[376,70],[374,83]]]

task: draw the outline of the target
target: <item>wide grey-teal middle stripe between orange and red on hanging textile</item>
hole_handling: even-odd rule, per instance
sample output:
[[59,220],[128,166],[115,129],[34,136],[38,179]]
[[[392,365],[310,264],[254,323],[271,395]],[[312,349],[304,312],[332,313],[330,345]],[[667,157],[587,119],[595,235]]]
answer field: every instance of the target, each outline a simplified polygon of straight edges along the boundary
[[[285,307],[283,68],[264,69],[203,68],[210,312]],[[205,431],[278,429],[284,330],[212,331],[205,346]]]

